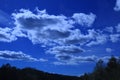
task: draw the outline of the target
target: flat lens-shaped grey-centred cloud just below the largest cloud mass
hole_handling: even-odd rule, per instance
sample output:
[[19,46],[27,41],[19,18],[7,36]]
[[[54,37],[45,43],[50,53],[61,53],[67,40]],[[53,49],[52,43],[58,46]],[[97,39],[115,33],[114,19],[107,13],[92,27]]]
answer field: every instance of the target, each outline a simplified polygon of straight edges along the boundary
[[51,54],[78,54],[82,52],[84,52],[84,50],[75,45],[56,46],[47,51],[47,53]]

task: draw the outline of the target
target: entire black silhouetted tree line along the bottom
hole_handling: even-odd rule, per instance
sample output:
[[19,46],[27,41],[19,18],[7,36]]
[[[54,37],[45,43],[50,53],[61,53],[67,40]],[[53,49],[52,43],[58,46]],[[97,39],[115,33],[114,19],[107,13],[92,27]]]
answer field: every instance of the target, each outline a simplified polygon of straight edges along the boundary
[[18,69],[5,64],[0,67],[0,80],[120,80],[120,59],[112,56],[108,63],[99,60],[92,73],[80,77],[51,74],[33,68]]

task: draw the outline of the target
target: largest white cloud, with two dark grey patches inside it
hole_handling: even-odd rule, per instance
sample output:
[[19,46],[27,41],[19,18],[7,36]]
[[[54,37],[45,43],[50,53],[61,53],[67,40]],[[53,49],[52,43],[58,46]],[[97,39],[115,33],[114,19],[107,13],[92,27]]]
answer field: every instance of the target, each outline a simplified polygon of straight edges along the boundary
[[[70,35],[69,29],[74,27],[72,20],[64,15],[49,15],[45,10],[37,14],[25,9],[12,14],[15,25],[21,31],[27,33],[33,43],[47,43],[66,38]],[[54,39],[54,40],[53,40]]]

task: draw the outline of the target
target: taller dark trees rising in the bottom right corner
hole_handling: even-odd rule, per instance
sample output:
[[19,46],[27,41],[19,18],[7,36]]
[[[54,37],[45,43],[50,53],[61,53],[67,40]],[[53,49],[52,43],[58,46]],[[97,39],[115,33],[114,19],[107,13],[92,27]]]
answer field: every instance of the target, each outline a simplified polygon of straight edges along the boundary
[[120,58],[112,56],[108,63],[99,60],[94,71],[81,76],[81,80],[120,80]]

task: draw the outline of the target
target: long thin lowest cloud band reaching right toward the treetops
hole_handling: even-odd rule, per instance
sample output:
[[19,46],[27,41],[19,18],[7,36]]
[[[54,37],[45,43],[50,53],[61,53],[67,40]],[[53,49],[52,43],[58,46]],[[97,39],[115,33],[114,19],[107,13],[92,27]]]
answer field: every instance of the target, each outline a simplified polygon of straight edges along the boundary
[[[104,62],[108,62],[110,59],[110,56],[102,56],[98,57],[95,55],[91,56],[70,56],[68,55],[63,55],[63,56],[58,56],[56,59],[58,61],[53,62],[54,65],[79,65],[80,63],[90,63],[90,62],[98,62],[100,59],[102,59]],[[116,57],[118,58],[118,57]]]

